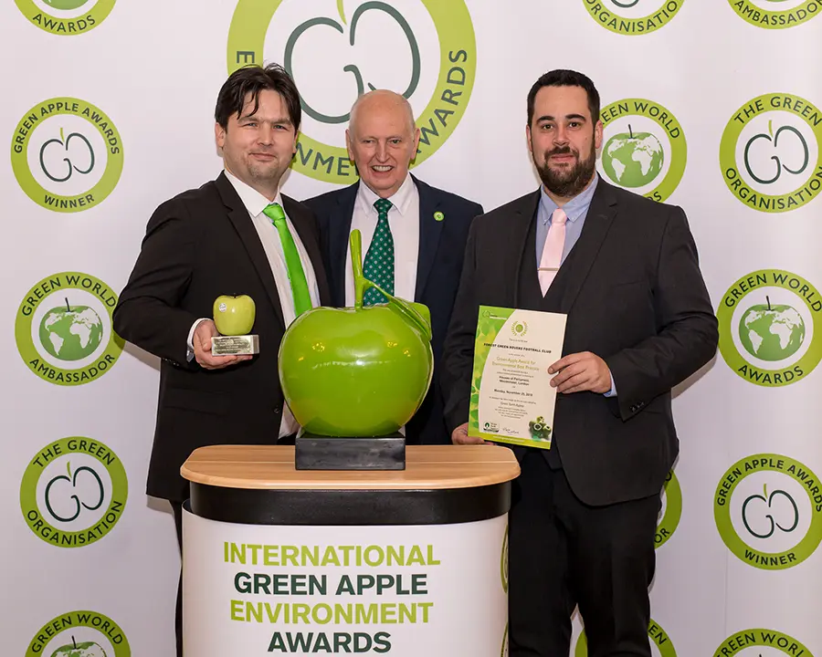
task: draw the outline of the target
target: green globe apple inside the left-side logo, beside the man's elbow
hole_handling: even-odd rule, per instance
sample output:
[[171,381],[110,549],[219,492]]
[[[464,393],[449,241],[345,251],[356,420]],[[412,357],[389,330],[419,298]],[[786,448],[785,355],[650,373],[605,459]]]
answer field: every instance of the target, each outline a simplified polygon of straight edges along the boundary
[[82,360],[100,347],[100,315],[88,306],[62,306],[47,311],[40,322],[40,343],[59,360]]

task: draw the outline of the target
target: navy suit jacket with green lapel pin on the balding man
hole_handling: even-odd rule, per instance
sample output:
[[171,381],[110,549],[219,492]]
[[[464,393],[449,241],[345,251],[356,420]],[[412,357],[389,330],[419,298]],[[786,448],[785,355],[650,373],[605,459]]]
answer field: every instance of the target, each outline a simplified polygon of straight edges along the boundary
[[[469,227],[474,217],[482,214],[482,206],[431,187],[415,176],[412,178],[419,193],[419,256],[413,300],[425,304],[431,312],[434,378],[425,401],[406,425],[406,441],[412,444],[444,444],[450,443],[450,433],[443,419],[438,374],[448,322],[457,297]],[[332,305],[338,308],[345,306],[345,257],[358,188],[359,183],[354,183],[303,202],[317,215],[323,262],[331,284]],[[437,212],[444,215],[442,221],[435,219]],[[363,245],[364,252],[367,246]]]

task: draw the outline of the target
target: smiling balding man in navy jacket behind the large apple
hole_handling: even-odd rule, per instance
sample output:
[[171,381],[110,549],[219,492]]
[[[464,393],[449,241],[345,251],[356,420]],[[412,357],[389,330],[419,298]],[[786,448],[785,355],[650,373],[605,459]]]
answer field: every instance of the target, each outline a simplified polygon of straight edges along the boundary
[[[320,224],[323,261],[334,306],[353,306],[349,235],[363,235],[364,274],[389,293],[425,304],[431,313],[434,378],[406,425],[410,444],[446,444],[438,370],[473,218],[482,207],[408,172],[419,130],[408,101],[384,89],[360,96],[345,131],[360,181],[304,203]],[[372,291],[375,292],[375,291]],[[365,304],[380,303],[366,293]]]

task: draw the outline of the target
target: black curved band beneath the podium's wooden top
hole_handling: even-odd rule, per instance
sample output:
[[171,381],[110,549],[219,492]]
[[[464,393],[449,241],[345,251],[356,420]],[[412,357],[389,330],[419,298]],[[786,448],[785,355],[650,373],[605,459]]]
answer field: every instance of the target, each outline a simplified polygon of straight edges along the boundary
[[258,490],[191,484],[196,516],[242,525],[456,525],[502,516],[511,482],[435,490]]

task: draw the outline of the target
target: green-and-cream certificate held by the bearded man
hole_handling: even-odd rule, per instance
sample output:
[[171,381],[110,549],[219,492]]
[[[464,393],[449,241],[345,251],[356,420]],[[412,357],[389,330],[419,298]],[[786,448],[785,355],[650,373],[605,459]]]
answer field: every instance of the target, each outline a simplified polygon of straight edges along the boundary
[[479,307],[469,435],[550,449],[556,389],[548,367],[560,360],[559,313]]

